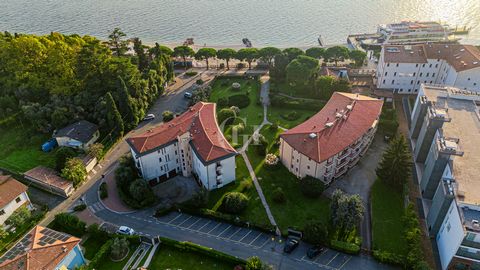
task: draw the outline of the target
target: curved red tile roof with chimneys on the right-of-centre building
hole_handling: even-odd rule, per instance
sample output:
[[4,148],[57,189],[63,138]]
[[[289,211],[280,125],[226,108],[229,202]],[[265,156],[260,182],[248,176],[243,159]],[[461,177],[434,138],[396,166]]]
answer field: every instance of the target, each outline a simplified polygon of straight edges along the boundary
[[[351,111],[347,106],[352,105]],[[383,101],[367,96],[335,92],[325,107],[281,138],[305,156],[321,163],[357,141],[372,127]],[[337,118],[337,113],[345,118]],[[327,123],[334,123],[327,127]],[[311,134],[315,136],[311,136]],[[313,138],[312,138],[313,137]]]

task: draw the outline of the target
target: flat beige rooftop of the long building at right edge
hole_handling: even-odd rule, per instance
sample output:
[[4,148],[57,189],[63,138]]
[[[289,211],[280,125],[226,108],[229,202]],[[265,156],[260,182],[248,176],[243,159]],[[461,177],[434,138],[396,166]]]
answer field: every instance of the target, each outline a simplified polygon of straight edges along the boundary
[[453,87],[424,85],[433,106],[448,110],[450,122],[443,124],[446,138],[459,139],[462,156],[453,156],[456,195],[465,204],[480,204],[480,95]]

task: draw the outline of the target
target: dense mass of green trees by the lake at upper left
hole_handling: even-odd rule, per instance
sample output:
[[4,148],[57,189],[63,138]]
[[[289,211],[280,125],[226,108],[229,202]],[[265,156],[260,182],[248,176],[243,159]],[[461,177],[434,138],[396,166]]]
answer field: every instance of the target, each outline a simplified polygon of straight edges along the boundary
[[0,118],[21,119],[42,133],[86,119],[112,139],[134,127],[173,68],[168,56],[145,50],[139,39],[137,55],[124,55],[120,29],[110,37],[107,46],[90,36],[0,34]]

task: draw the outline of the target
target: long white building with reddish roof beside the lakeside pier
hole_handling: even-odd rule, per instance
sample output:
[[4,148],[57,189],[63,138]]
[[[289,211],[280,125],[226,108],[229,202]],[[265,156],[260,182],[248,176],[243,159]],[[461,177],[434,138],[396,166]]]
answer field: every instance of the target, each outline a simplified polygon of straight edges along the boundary
[[376,86],[416,94],[420,85],[454,86],[480,91],[480,51],[471,45],[384,45],[377,65]]

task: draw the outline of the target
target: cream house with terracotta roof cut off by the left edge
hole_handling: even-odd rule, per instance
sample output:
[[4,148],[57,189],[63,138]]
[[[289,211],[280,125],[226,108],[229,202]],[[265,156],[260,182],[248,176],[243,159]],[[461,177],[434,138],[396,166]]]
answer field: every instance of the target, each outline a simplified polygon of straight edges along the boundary
[[13,212],[22,206],[33,209],[27,186],[9,175],[0,175],[0,225],[4,225]]

